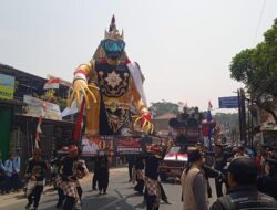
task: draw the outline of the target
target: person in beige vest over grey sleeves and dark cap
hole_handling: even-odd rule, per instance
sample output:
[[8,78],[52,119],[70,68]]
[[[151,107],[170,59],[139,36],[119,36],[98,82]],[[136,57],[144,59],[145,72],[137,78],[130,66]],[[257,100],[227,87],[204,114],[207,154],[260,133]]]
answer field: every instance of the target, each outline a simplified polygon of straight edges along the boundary
[[183,210],[207,210],[207,182],[202,172],[203,156],[196,148],[188,151],[187,167],[182,174]]

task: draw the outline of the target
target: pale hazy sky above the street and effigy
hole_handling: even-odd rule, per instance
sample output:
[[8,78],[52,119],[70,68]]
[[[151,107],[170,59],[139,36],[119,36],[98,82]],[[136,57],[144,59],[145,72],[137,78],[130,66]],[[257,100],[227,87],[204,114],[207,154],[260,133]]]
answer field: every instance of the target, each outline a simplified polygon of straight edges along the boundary
[[232,57],[263,41],[277,1],[1,0],[0,63],[72,81],[113,14],[145,76],[147,101],[207,109],[244,86],[229,76]]

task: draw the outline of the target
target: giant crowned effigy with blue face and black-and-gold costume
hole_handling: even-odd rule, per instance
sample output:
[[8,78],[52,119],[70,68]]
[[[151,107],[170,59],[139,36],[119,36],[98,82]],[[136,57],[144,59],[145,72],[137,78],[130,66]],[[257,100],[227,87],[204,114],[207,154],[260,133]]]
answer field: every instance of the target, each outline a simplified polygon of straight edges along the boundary
[[[134,124],[143,132],[153,130],[143,75],[124,49],[123,31],[119,32],[113,17],[91,61],[74,72],[70,103],[76,99],[79,107],[85,104],[88,136],[131,135]],[[132,115],[136,116],[133,120]]]

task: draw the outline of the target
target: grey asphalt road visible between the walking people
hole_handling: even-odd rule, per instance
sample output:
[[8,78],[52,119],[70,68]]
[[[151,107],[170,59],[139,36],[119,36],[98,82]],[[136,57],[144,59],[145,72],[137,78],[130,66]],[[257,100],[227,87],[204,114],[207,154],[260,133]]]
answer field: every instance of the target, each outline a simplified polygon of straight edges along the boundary
[[[92,175],[81,181],[83,188],[82,210],[132,210],[146,209],[143,203],[143,196],[136,195],[133,190],[134,185],[127,182],[127,168],[114,168],[110,170],[110,185],[107,195],[99,196],[98,191],[91,189]],[[178,183],[163,183],[165,192],[172,204],[161,202],[161,210],[182,209],[181,186]],[[214,183],[212,182],[213,195],[215,195]],[[54,210],[57,203],[57,192],[52,187],[45,187],[41,197],[39,210]],[[214,199],[211,200],[211,203]],[[1,210],[23,210],[27,199],[23,192],[0,196]]]

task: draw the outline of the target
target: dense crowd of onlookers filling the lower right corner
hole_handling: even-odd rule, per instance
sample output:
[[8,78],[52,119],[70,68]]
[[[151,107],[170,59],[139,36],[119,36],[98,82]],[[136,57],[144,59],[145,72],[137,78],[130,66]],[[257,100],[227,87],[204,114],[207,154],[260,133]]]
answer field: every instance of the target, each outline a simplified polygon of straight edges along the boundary
[[[277,161],[274,150],[257,150],[253,156],[244,146],[235,150],[216,144],[214,151],[195,147],[182,175],[183,210],[277,209]],[[206,159],[213,156],[213,172]],[[208,203],[208,178],[215,178],[217,200]],[[225,191],[223,191],[223,186]],[[212,206],[211,206],[212,204]]]

